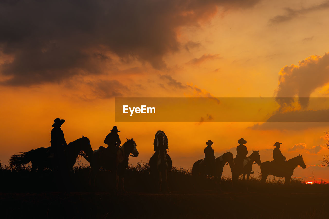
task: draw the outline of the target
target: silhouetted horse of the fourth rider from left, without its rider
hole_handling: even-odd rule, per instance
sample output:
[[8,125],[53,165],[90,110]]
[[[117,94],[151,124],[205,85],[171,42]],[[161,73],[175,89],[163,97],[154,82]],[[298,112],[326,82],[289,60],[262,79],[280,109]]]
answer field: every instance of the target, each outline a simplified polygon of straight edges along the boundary
[[215,159],[215,164],[213,169],[211,167],[208,167],[204,165],[204,159],[198,160],[193,164],[192,167],[192,176],[194,178],[194,182],[197,181],[197,177],[205,177],[206,175],[214,176],[216,178],[216,182],[220,184],[223,168],[226,163],[229,163],[231,166],[231,173],[233,176],[233,170],[235,167],[235,163],[233,160],[233,154],[231,152],[226,152],[222,154],[221,156],[217,157]]

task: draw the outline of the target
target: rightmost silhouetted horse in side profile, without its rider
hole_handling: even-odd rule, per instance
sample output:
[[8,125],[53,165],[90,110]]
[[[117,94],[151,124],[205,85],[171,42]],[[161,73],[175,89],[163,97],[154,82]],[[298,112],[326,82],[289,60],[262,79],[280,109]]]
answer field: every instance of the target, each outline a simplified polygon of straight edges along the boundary
[[297,157],[291,158],[290,160],[282,162],[281,164],[278,164],[278,162],[275,161],[263,162],[261,164],[262,182],[266,183],[267,176],[271,174],[277,177],[284,177],[285,183],[289,184],[293,170],[297,165],[300,165],[303,169],[306,168],[302,155],[298,155]]

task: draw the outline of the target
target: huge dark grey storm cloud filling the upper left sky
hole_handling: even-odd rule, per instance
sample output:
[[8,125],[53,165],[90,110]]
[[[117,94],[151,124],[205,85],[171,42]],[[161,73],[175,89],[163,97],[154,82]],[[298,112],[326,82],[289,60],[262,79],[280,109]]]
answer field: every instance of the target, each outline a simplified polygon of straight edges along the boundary
[[[99,74],[111,61],[137,59],[156,69],[163,56],[181,48],[177,30],[210,19],[217,6],[247,8],[258,0],[80,0],[1,1],[2,85],[61,82]],[[190,45],[191,46],[191,45]]]

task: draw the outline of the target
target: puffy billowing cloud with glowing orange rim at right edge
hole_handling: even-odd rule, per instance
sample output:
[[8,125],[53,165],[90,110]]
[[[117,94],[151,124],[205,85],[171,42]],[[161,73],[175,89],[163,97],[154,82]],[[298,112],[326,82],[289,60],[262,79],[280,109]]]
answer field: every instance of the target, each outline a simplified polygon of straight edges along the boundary
[[[302,108],[308,105],[308,97],[318,87],[329,82],[329,54],[313,55],[299,61],[297,65],[285,66],[279,72],[279,86],[276,97],[281,108],[290,107],[298,96]],[[291,98],[285,98],[291,97]]]

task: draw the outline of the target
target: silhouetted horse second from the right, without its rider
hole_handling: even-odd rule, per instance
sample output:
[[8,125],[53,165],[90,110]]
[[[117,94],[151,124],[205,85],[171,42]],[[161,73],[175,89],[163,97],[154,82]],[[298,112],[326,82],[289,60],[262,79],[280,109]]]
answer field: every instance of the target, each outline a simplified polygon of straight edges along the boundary
[[[236,161],[237,158],[233,160]],[[242,170],[241,167],[236,166],[234,170],[234,174],[232,175],[232,180],[238,180],[239,176],[242,174],[243,180],[245,180],[245,175],[247,175],[247,180],[249,180],[250,170],[254,161],[260,166],[261,165],[261,156],[259,155],[259,151],[252,151],[252,153],[243,161]]]

